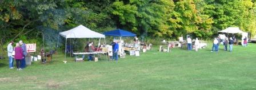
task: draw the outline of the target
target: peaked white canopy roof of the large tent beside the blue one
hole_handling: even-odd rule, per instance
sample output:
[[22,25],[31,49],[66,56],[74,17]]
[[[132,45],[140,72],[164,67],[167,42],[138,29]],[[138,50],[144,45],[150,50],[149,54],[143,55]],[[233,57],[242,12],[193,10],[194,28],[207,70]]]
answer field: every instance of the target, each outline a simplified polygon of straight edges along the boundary
[[91,31],[82,24],[68,31],[59,32],[65,38],[105,38],[105,35]]

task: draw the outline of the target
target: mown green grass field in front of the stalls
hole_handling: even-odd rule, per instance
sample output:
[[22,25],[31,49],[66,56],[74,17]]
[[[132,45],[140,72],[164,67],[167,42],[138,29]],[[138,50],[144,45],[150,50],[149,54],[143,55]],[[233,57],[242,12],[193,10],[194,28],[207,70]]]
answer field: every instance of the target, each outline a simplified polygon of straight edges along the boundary
[[[63,54],[53,63],[33,62],[23,71],[0,60],[0,89],[256,89],[256,44],[234,46],[233,52],[198,52],[158,47],[118,62],[74,62]],[[103,58],[104,59],[104,58]]]

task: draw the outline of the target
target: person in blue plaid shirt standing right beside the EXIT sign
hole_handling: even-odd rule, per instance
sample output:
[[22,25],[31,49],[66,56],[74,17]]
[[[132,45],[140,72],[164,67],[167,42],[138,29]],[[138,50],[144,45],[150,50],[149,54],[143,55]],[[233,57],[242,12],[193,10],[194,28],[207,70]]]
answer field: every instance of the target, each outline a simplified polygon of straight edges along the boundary
[[19,40],[19,44],[21,45],[22,48],[22,52],[23,52],[23,59],[21,60],[21,68],[25,68],[26,67],[26,56],[27,56],[27,48],[26,48],[26,44],[22,42],[22,40]]

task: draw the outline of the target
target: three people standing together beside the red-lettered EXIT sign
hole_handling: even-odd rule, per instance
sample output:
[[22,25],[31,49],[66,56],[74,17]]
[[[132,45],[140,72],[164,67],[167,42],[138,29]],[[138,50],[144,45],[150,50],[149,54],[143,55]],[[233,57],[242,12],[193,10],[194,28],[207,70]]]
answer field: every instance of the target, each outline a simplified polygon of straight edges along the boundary
[[26,44],[19,40],[13,48],[14,42],[11,41],[7,46],[7,52],[9,57],[9,68],[14,68],[14,59],[16,60],[17,70],[22,70],[26,67],[25,57],[27,56]]

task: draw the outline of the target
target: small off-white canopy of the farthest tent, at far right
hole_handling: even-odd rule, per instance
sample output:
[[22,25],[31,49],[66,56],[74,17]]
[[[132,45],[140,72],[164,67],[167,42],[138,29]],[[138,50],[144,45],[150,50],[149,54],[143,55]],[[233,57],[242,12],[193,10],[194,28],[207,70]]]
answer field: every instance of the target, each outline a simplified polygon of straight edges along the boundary
[[[228,27],[225,30],[221,30],[218,32],[225,32],[227,34],[242,34],[242,42],[245,37],[248,38],[248,32],[243,32],[239,29],[239,27]],[[247,39],[248,42],[248,39]],[[242,43],[243,44],[243,43]]]

